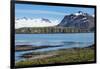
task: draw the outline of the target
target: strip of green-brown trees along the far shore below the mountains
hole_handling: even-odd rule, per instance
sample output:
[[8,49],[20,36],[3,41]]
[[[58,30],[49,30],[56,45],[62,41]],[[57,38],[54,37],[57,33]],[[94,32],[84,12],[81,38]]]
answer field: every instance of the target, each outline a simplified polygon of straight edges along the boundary
[[78,33],[78,32],[90,32],[87,29],[78,29],[72,27],[31,27],[31,28],[19,28],[15,30],[17,34],[40,34],[40,33]]

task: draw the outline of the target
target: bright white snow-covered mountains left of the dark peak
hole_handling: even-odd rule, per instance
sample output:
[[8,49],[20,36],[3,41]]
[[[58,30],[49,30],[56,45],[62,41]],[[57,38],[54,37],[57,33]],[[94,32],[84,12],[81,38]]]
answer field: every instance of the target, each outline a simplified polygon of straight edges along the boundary
[[16,18],[15,29],[23,27],[50,27],[58,25],[58,20],[49,20],[45,18]]

